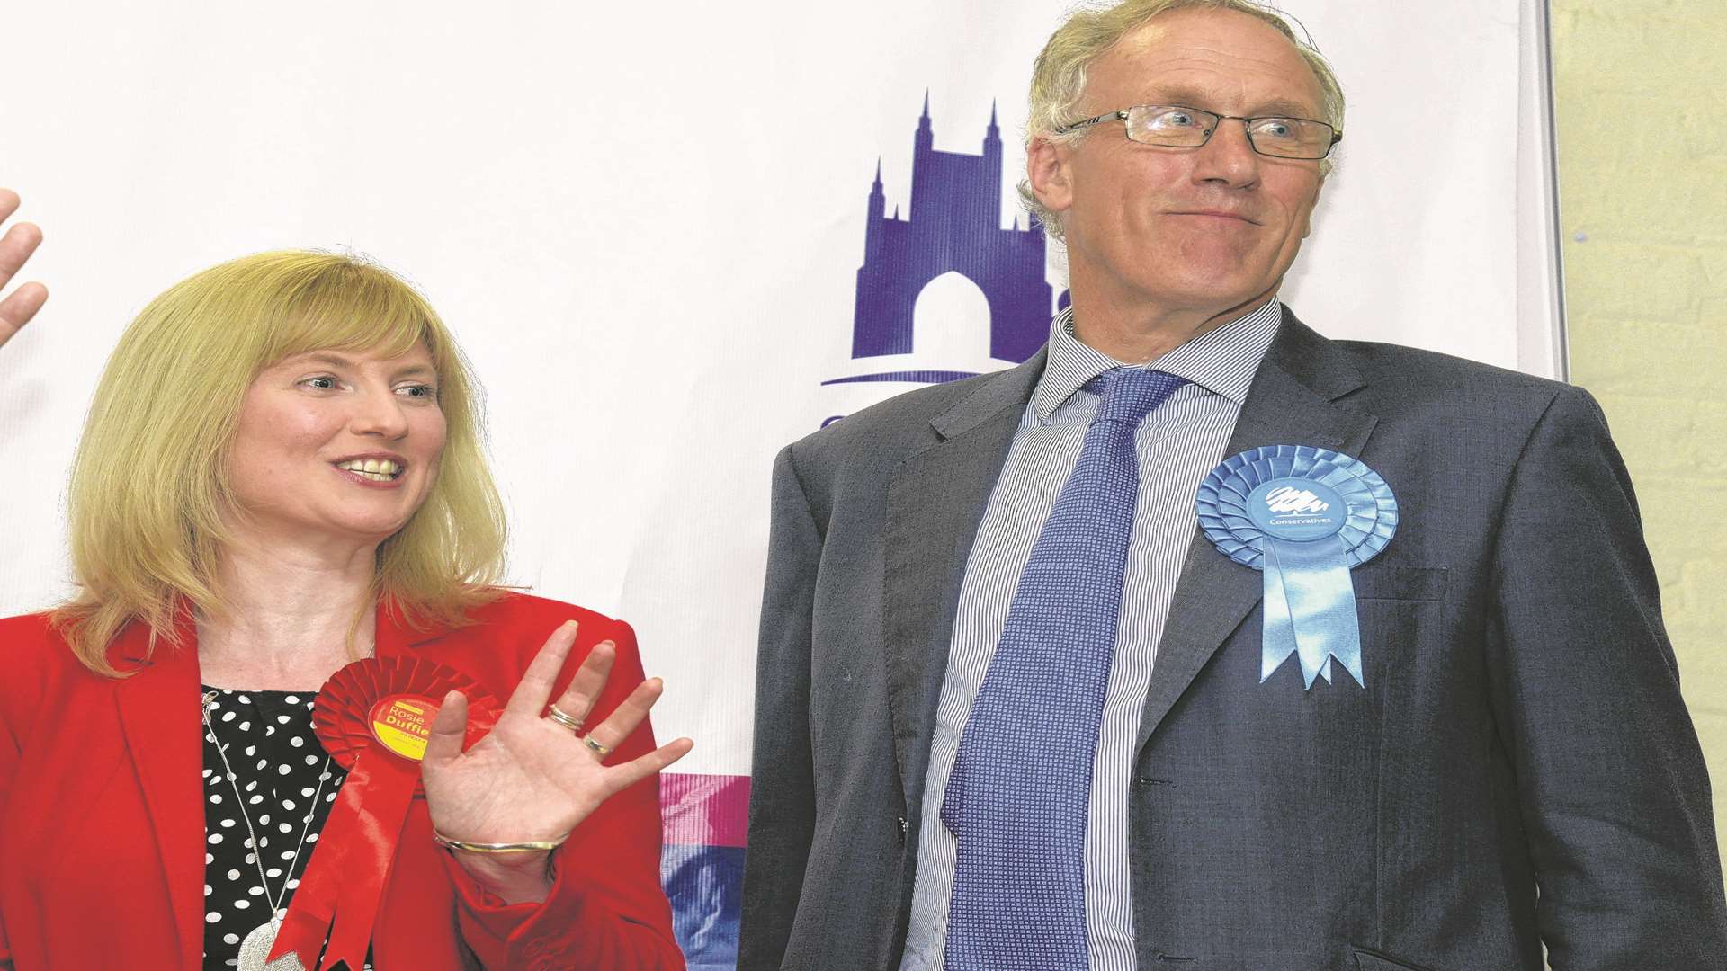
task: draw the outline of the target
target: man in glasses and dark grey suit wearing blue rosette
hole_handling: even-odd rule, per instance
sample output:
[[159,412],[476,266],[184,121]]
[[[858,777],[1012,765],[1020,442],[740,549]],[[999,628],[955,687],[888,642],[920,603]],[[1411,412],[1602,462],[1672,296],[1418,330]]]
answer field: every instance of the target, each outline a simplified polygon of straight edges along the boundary
[[[1727,968],[1599,408],[1276,302],[1342,128],[1318,54],[1129,0],[1055,33],[1031,116],[1045,351],[775,465],[739,968]],[[1195,529],[1261,447],[1340,453],[1356,568],[1285,543],[1328,506],[1294,466],[1318,518]]]

